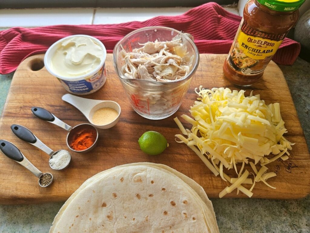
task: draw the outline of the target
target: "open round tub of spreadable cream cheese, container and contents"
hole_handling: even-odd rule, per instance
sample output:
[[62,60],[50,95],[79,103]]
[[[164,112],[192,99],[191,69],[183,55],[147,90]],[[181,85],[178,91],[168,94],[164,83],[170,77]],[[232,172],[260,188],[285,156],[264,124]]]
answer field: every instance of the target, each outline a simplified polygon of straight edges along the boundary
[[73,35],[51,45],[44,56],[44,65],[68,92],[87,95],[99,90],[107,80],[106,56],[100,40]]

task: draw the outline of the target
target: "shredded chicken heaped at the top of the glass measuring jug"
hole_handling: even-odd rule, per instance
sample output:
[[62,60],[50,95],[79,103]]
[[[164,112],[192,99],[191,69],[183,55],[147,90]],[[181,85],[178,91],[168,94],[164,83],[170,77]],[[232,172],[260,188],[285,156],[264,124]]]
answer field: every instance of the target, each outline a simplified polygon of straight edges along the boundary
[[193,56],[189,56],[180,36],[171,41],[147,42],[130,53],[123,49],[122,73],[129,79],[157,82],[181,80],[193,68]]

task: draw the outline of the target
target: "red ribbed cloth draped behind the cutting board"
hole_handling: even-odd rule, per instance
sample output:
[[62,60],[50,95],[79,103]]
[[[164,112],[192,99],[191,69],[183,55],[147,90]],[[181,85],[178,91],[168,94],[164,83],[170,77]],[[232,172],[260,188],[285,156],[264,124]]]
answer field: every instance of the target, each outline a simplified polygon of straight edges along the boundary
[[[193,35],[200,53],[228,53],[241,17],[214,2],[195,7],[180,16],[159,16],[147,21],[107,25],[56,25],[37,28],[15,27],[0,32],[0,73],[16,70],[31,55],[44,53],[57,40],[86,34],[104,43],[108,53],[115,44],[133,30],[148,26],[166,26]],[[300,52],[300,44],[284,39],[273,57],[278,64],[291,65]]]

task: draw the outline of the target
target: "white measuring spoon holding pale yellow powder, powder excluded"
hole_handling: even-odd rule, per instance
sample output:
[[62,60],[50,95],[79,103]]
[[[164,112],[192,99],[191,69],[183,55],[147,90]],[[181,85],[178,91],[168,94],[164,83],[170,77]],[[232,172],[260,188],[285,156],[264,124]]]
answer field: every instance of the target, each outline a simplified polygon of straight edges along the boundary
[[[78,110],[80,110],[84,116],[87,118],[87,120],[95,127],[99,129],[108,129],[116,125],[116,123],[119,121],[120,115],[121,115],[121,107],[118,103],[110,100],[95,100],[95,99],[86,99],[82,97],[78,97],[71,94],[65,94],[62,96],[62,100],[65,102],[72,104],[74,107],[76,107]],[[105,124],[105,125],[96,125],[92,121],[92,118],[94,116],[94,113],[104,107],[113,108],[117,113],[117,117],[112,122]]]

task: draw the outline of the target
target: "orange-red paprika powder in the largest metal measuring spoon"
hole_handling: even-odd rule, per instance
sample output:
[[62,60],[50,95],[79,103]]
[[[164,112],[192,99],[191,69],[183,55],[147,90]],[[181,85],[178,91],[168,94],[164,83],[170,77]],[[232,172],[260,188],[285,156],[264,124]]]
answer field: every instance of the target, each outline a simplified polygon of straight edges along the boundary
[[95,129],[85,129],[74,136],[70,147],[73,150],[86,150],[90,148],[96,140],[97,132]]

